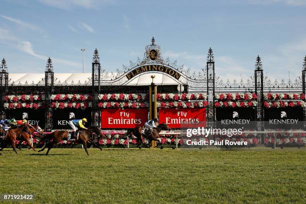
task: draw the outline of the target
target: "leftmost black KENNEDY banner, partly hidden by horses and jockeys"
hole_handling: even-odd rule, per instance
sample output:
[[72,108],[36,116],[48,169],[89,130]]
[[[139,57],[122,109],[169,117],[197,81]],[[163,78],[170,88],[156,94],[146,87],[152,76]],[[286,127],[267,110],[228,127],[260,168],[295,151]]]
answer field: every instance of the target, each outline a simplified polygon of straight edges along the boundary
[[44,109],[8,109],[6,110],[6,118],[26,119],[29,124],[38,124],[41,128],[44,128]]

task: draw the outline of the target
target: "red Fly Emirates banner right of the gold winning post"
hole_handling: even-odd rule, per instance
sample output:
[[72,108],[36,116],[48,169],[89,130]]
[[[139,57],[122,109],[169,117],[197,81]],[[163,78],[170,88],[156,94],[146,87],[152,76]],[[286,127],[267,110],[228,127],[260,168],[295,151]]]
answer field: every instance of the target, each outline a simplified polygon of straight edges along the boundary
[[158,113],[158,123],[166,123],[171,128],[192,127],[206,121],[205,108],[162,108]]

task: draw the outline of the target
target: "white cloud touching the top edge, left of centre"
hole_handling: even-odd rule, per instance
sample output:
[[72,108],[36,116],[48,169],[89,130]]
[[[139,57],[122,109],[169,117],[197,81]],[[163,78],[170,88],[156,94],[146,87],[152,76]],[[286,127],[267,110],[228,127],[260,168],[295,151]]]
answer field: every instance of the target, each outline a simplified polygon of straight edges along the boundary
[[72,7],[94,8],[100,4],[112,3],[113,0],[39,0],[39,2],[61,9],[70,9]]

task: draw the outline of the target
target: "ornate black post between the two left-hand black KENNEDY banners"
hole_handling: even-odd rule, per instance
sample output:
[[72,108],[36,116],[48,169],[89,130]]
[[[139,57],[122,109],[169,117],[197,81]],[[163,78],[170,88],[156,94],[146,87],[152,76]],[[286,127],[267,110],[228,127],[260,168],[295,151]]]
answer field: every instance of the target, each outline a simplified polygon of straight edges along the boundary
[[47,59],[47,63],[45,66],[44,71],[44,87],[45,87],[45,93],[44,93],[44,105],[45,105],[45,131],[51,131],[53,124],[52,124],[52,113],[53,110],[51,108],[51,94],[54,90],[54,72],[53,72],[53,65],[52,60],[49,57]]

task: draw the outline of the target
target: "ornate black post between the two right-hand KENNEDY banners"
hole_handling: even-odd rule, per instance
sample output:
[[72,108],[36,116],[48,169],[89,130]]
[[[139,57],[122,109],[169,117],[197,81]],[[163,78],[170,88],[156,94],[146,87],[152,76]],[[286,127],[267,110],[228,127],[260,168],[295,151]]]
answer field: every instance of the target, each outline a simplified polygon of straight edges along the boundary
[[[255,93],[257,95],[257,106],[256,106],[256,115],[257,115],[257,131],[263,131],[263,69],[259,55],[256,58],[255,63],[255,71],[254,71],[254,78],[255,78]],[[264,143],[264,134],[260,133],[261,137],[261,144]]]

